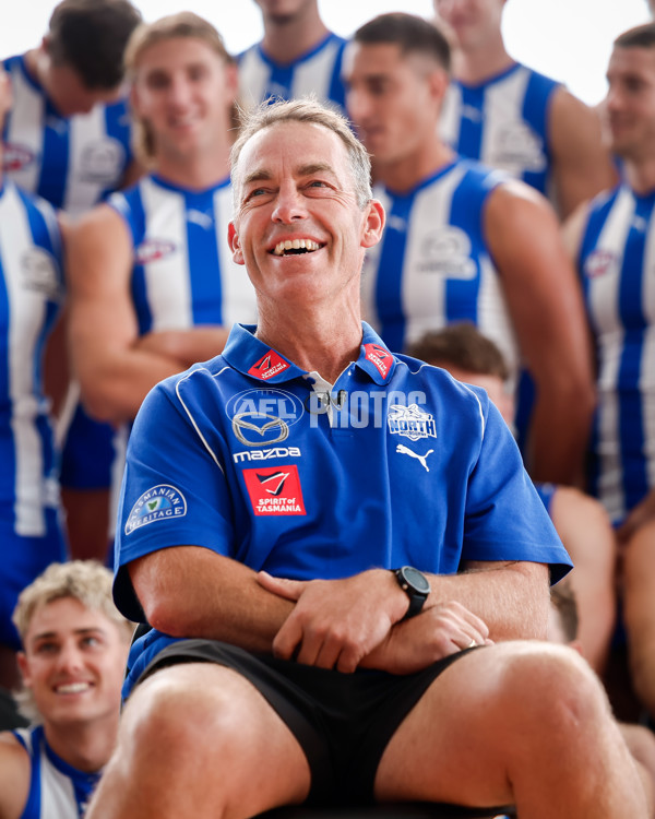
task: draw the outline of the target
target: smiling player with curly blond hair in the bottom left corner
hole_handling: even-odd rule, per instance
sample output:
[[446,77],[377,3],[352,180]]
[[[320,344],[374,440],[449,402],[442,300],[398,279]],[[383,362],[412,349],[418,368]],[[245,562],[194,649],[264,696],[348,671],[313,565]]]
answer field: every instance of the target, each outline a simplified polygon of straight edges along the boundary
[[0,734],[0,814],[80,819],[116,743],[131,624],[93,561],[52,563],[21,594],[23,691],[34,727]]

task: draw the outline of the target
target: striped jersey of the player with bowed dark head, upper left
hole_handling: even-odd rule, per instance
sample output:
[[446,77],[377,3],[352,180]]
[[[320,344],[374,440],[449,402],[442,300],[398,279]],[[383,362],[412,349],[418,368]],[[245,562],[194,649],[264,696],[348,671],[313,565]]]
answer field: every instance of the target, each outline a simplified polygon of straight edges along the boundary
[[73,215],[88,210],[118,187],[132,158],[127,103],[62,117],[23,56],[4,68],[13,93],[2,134],[5,175]]

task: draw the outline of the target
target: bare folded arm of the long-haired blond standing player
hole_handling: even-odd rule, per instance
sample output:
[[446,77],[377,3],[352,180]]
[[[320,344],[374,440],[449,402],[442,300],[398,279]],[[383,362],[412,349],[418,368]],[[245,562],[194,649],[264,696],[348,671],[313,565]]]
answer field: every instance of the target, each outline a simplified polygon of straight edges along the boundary
[[119,423],[136,415],[147,392],[194,361],[217,355],[228,331],[218,325],[141,336],[130,292],[132,242],[121,216],[94,209],[70,230],[69,347],[90,413]]

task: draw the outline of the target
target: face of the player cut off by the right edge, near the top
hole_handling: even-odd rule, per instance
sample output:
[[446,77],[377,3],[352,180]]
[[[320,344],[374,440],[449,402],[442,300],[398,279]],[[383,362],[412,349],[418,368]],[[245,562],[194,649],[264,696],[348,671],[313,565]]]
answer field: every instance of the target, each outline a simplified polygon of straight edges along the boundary
[[655,48],[615,48],[602,107],[610,150],[624,159],[655,153]]

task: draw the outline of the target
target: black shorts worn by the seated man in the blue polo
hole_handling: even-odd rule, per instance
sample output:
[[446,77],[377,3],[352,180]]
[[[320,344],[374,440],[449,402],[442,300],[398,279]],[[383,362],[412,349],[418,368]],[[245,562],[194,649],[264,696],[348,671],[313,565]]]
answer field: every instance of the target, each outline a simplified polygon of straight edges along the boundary
[[291,731],[311,770],[307,804],[372,804],[376,772],[389,740],[451,654],[408,675],[335,670],[254,654],[215,640],[182,640],[152,661],[140,680],[178,663],[217,663],[241,674]]

